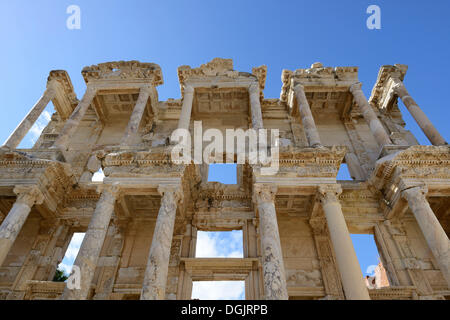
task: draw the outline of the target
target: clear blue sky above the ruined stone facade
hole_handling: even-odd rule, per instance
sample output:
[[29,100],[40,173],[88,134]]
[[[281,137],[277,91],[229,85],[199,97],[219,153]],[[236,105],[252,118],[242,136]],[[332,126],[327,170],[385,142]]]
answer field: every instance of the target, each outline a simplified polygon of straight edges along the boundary
[[[66,28],[69,5],[81,29]],[[369,30],[376,4],[382,29]],[[409,65],[405,84],[450,140],[450,2],[434,1],[5,1],[0,2],[0,140],[45,89],[48,72],[65,69],[81,98],[81,69],[113,60],[155,62],[160,100],[179,98],[177,67],[232,58],[236,70],[268,66],[265,96],[277,98],[282,69],[359,66],[367,97],[381,65]],[[401,104],[407,128],[429,144]],[[377,263],[377,261],[374,261]]]

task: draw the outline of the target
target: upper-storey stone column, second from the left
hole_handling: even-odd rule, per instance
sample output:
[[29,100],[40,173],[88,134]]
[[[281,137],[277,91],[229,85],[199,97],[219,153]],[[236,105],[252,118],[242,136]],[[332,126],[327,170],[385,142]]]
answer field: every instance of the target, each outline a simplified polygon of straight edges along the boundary
[[83,99],[78,103],[78,106],[70,115],[69,119],[66,120],[66,123],[59,133],[58,139],[56,139],[54,143],[54,147],[60,150],[67,149],[67,142],[70,137],[75,133],[80,121],[83,119],[87,109],[94,100],[95,95],[97,94],[97,89],[92,87],[87,87],[86,92],[84,93]]

